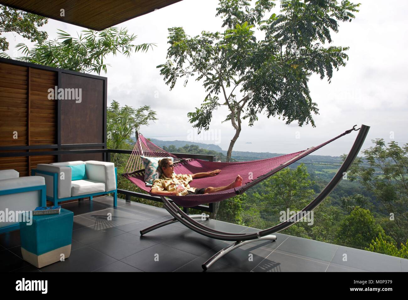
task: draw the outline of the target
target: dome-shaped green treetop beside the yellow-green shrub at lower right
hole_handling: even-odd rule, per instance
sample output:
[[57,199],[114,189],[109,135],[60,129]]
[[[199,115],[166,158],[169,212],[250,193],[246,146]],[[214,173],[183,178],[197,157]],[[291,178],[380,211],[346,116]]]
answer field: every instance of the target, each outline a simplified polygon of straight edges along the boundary
[[386,236],[384,229],[375,222],[368,209],[355,207],[349,216],[341,221],[335,243],[347,247],[364,249],[369,247],[370,242],[379,236],[386,238],[388,242],[395,241]]

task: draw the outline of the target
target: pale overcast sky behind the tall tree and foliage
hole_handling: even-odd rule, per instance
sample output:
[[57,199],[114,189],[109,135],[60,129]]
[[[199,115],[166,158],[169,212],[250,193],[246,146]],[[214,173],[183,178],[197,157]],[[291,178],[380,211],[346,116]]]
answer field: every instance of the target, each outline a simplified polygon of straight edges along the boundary
[[[282,120],[261,115],[253,127],[243,122],[234,150],[291,153],[329,140],[354,124],[371,126],[363,149],[370,147],[370,140],[374,138],[384,138],[386,142],[395,140],[401,146],[407,143],[408,4],[397,0],[359,2],[362,4],[355,20],[341,23],[339,33],[332,36],[333,45],[350,47],[347,66],[334,72],[330,84],[319,76],[310,79],[311,96],[320,113],[314,116],[316,127],[310,124],[298,127],[295,122],[286,125]],[[213,114],[210,132],[202,137],[206,140],[193,133],[188,122],[187,113],[199,107],[205,97],[202,83],[189,81],[183,87],[184,80],[181,80],[169,91],[156,69],[166,61],[168,28],[183,27],[189,36],[199,35],[203,30],[223,31],[221,18],[215,17],[217,4],[217,0],[183,0],[118,25],[135,33],[138,44],[157,44],[153,51],[133,53],[130,58],[110,56],[106,61],[111,67],[107,74],[101,74],[108,78],[108,104],[114,99],[121,105],[133,107],[148,104],[157,111],[158,120],[141,128],[144,136],[162,140],[190,139],[228,149],[234,130],[231,123],[221,124],[227,114],[225,109]],[[273,9],[278,11],[278,6]],[[82,28],[50,19],[41,29],[55,38],[56,29],[75,34]],[[20,56],[14,49],[17,43],[31,44],[11,33],[6,36],[10,42],[7,53],[12,57]],[[348,153],[356,136],[353,132],[314,154]]]

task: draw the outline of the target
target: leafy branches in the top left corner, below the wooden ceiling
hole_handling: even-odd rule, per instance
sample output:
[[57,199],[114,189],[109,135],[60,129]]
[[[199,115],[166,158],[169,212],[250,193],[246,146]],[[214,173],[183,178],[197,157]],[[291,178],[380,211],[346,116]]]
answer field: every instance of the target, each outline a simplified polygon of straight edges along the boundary
[[[16,32],[31,42],[41,44],[48,35],[45,31],[39,31],[37,27],[41,27],[47,22],[47,18],[0,5],[0,35],[2,32]],[[0,49],[2,51],[9,49],[9,42],[4,37],[0,38]],[[1,56],[8,57],[5,53],[1,53]]]

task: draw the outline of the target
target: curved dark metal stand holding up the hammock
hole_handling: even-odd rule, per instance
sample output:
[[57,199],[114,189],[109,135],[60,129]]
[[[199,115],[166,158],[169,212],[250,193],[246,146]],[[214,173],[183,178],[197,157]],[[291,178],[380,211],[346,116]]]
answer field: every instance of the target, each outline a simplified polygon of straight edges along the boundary
[[209,260],[207,260],[202,265],[202,268],[204,270],[207,270],[209,267],[211,267],[211,265],[214,264],[220,258],[222,258],[222,256],[233,251],[234,249],[241,247],[242,245],[248,244],[250,242],[255,242],[258,240],[275,241],[277,238],[275,235],[272,235],[272,233],[286,229],[289,226],[301,220],[302,218],[304,218],[305,216],[307,216],[310,213],[310,211],[315,209],[317,205],[319,205],[331,193],[331,191],[333,191],[333,189],[337,186],[337,184],[343,178],[344,173],[348,170],[350,165],[353,163],[353,161],[357,157],[357,154],[359,153],[361,146],[363,145],[364,140],[366,139],[369,129],[370,129],[369,126],[361,125],[357,138],[353,144],[353,147],[350,149],[350,152],[348,153],[347,158],[344,160],[343,164],[341,164],[341,167],[339,168],[339,170],[337,171],[333,179],[330,180],[330,182],[322,190],[322,192],[320,192],[319,195],[317,195],[317,197],[312,202],[310,202],[302,211],[299,211],[295,216],[290,217],[288,220],[280,224],[277,224],[268,229],[264,229],[264,230],[260,230],[260,231],[252,232],[252,233],[229,233],[229,232],[224,232],[224,231],[218,231],[213,228],[207,227],[195,220],[198,218],[203,218],[205,220],[208,220],[209,218],[208,215],[202,214],[202,215],[190,215],[189,216],[186,213],[184,213],[184,211],[182,211],[182,209],[180,209],[174,202],[170,202],[167,198],[160,196],[160,198],[162,199],[164,203],[165,209],[170,213],[171,216],[173,216],[173,218],[170,220],[166,220],[158,224],[155,224],[144,230],[141,230],[140,234],[144,235],[148,233],[149,231],[152,231],[154,229],[157,229],[162,226],[172,224],[178,221],[182,223],[184,226],[186,226],[187,228],[197,233],[200,233],[203,236],[207,236],[209,238],[215,238],[217,240],[235,241],[235,243],[222,249],[221,251],[216,253],[213,257],[211,257]]

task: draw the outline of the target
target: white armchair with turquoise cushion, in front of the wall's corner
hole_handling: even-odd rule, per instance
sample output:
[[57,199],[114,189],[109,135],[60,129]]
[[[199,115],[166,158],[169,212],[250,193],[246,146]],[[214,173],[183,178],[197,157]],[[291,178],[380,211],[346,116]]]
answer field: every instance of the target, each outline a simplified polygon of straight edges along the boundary
[[[84,165],[85,176],[72,180],[72,169],[69,166]],[[113,162],[95,160],[75,162],[54,162],[38,164],[31,170],[31,175],[45,178],[47,185],[47,200],[58,202],[113,193],[113,206],[117,202],[117,171]]]

